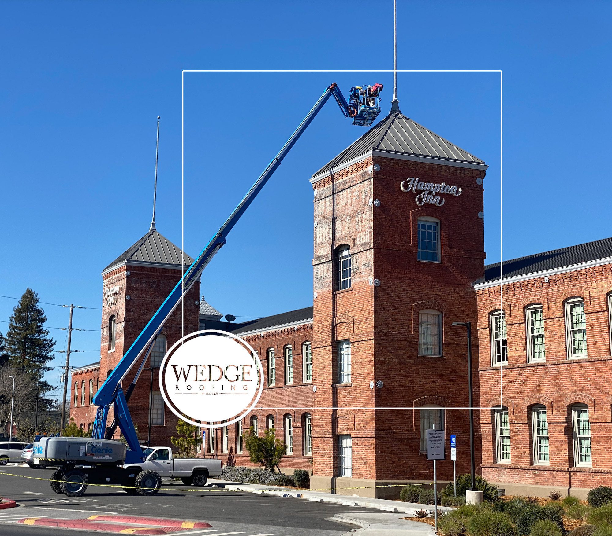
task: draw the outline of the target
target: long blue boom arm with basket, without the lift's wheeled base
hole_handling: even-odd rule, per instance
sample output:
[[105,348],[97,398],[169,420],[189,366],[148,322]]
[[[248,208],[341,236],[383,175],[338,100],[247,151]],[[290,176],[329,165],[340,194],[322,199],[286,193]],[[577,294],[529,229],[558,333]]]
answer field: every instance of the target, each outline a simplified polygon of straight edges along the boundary
[[[283,158],[285,158],[289,150],[291,150],[293,145],[304,133],[312,120],[315,119],[316,115],[321,108],[323,108],[330,96],[334,95],[334,98],[338,102],[338,105],[340,106],[340,109],[345,117],[356,118],[354,119],[353,124],[371,125],[373,119],[380,112],[379,106],[376,105],[378,105],[379,101],[378,92],[383,86],[381,84],[376,84],[376,86],[366,87],[367,89],[365,90],[365,93],[371,93],[370,101],[368,101],[366,104],[371,105],[374,102],[375,106],[360,106],[359,101],[353,97],[354,94],[356,94],[358,97],[359,91],[364,94],[364,90],[362,90],[361,87],[351,89],[351,103],[347,103],[346,99],[338,89],[337,84],[334,83],[325,90],[323,95],[319,97],[319,100],[316,101],[315,106],[313,106],[310,112],[308,112],[308,115],[304,118],[304,120],[302,120],[299,127],[297,127],[296,131],[294,131],[294,133],[291,135],[291,138],[289,138],[285,145],[283,145],[283,148],[278,152],[274,160],[268,164],[264,172],[259,175],[258,180],[248,191],[247,195],[244,196],[236,209],[231,213],[230,217],[226,219],[223,226],[211,238],[206,248],[203,249],[200,255],[198,255],[198,258],[193,261],[192,265],[183,274],[181,281],[176,284],[170,295],[168,295],[157,312],[155,312],[151,320],[149,320],[149,323],[147,323],[143,331],[141,331],[140,335],[136,337],[136,340],[132,343],[132,346],[124,354],[121,361],[119,361],[118,365],[113,369],[108,378],[106,378],[106,381],[102,384],[102,387],[100,387],[99,391],[95,394],[94,403],[99,407],[95,417],[92,438],[103,439],[107,435],[112,436],[116,426],[119,425],[119,428],[121,428],[121,431],[125,436],[127,444],[130,448],[130,451],[127,453],[128,456],[125,460],[126,463],[135,463],[141,461],[142,458],[138,437],[136,436],[134,430],[129,409],[127,408],[127,400],[133,390],[133,384],[140,375],[144,361],[146,361],[146,358],[151,351],[151,347],[157,333],[160,331],[160,329],[162,329],[162,326],[168,317],[170,317],[174,309],[176,309],[176,307],[181,303],[181,299],[185,293],[187,293],[192,285],[198,281],[198,278],[200,277],[200,274],[204,268],[206,268],[206,265],[211,261],[215,253],[222,248],[223,244],[225,244],[227,235],[244,214],[245,210],[247,210],[248,206],[253,202],[269,178],[272,177],[272,174],[274,174],[277,167],[280,166],[280,163],[283,161]],[[355,92],[355,90],[357,90],[357,92]],[[372,101],[372,98],[374,101]],[[363,100],[365,102],[365,97]],[[367,110],[365,110],[366,114],[363,117],[359,117],[360,113],[362,112],[362,108],[367,108]],[[144,350],[147,350],[147,352],[143,357],[143,362],[141,363],[140,369],[136,374],[136,378],[132,382],[132,386],[130,386],[128,394],[124,395],[121,388],[121,381],[124,379],[129,370],[132,369],[136,361],[138,361],[138,357]],[[107,432],[106,420],[108,419],[108,411],[111,403],[114,407],[114,421],[110,430]],[[110,437],[108,438],[110,439]]]

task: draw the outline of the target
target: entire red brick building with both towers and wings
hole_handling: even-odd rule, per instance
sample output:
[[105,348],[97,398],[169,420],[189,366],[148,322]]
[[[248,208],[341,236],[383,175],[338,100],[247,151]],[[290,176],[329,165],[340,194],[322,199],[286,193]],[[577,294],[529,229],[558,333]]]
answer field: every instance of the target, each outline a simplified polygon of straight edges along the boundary
[[[396,105],[311,178],[313,307],[230,324],[202,299],[198,320],[192,289],[185,333],[233,331],[264,367],[258,409],[207,431],[203,455],[248,465],[244,431],[273,427],[288,444],[283,471],[312,470],[313,488],[396,496],[384,486],[431,481],[436,427],[457,436],[468,472],[466,331],[451,324],[469,321],[474,405],[491,408],[475,412],[479,472],[518,493],[610,483],[612,239],[504,262],[500,287],[499,265],[484,263],[486,169]],[[101,366],[72,377],[84,427],[94,407],[81,400],[178,281],[180,254],[152,231],[103,271]],[[162,334],[159,356],[181,336],[177,313]],[[130,400],[143,441],[149,379]],[[159,394],[151,407],[151,441],[169,445],[176,418]],[[441,480],[452,479],[448,451]]]

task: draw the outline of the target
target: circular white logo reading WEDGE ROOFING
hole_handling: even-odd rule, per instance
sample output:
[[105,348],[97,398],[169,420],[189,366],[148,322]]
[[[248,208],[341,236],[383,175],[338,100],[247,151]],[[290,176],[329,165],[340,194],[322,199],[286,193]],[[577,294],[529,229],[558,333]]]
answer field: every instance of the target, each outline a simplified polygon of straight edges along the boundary
[[218,428],[241,420],[255,407],[263,391],[261,370],[259,356],[244,339],[206,329],[172,345],[160,366],[159,386],[176,416]]

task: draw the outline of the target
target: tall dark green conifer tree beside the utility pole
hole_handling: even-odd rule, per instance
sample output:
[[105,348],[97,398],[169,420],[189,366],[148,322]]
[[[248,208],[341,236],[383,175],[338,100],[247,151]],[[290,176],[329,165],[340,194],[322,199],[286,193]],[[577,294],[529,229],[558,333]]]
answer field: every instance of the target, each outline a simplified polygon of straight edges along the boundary
[[49,330],[44,324],[47,321],[45,312],[39,307],[39,296],[27,288],[9,319],[9,331],[6,332],[5,353],[9,367],[23,370],[32,383],[40,387],[40,395],[53,389],[43,375],[48,369],[48,361],[53,359],[55,341],[49,337]]

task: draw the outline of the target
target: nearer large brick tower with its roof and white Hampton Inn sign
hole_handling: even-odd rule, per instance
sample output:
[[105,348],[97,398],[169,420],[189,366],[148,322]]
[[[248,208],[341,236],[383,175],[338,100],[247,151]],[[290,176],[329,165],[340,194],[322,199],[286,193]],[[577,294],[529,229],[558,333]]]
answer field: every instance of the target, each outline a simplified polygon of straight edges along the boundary
[[[469,471],[468,412],[442,408],[468,406],[466,332],[450,324],[476,325],[485,259],[487,166],[394,108],[311,180],[315,407],[340,408],[314,412],[312,487],[377,497],[431,480],[434,424]],[[351,409],[373,407],[427,409]]]

